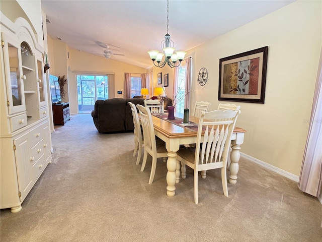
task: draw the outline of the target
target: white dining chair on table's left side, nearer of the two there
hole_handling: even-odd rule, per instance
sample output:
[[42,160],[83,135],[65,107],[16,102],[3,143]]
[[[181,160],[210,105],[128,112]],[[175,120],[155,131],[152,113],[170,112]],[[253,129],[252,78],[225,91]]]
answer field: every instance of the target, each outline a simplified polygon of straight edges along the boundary
[[152,165],[151,165],[149,184],[152,184],[154,174],[155,174],[155,169],[156,169],[157,158],[163,157],[164,161],[166,161],[168,158],[168,151],[166,149],[166,143],[163,140],[155,139],[150,109],[140,104],[137,104],[136,107],[139,109],[141,126],[143,128],[143,139],[144,139],[144,155],[143,155],[141,171],[144,170],[147,154],[150,154],[152,156]]

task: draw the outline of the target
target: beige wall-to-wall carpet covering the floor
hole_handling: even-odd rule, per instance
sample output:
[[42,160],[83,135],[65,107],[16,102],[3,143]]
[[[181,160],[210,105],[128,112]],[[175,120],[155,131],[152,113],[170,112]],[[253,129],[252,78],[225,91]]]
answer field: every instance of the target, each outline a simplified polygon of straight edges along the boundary
[[229,197],[219,170],[200,177],[196,205],[188,167],[173,198],[162,159],[148,185],[151,159],[140,172],[133,133],[99,134],[90,114],[72,115],[55,130],[53,161],[23,209],[1,211],[1,242],[322,241],[319,201],[248,160],[240,160]]

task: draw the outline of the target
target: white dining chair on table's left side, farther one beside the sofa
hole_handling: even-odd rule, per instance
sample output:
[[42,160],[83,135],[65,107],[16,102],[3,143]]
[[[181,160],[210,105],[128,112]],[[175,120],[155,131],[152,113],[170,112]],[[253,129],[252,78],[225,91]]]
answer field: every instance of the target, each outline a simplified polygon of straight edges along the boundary
[[132,102],[128,102],[131,111],[132,111],[132,116],[133,116],[133,124],[134,124],[134,152],[133,156],[136,155],[137,152],[137,159],[136,159],[136,164],[138,165],[141,160],[141,154],[142,154],[142,145],[143,145],[143,139],[142,139],[142,132],[141,132],[141,125],[140,125],[140,120],[139,116],[137,114],[137,110],[135,105]]

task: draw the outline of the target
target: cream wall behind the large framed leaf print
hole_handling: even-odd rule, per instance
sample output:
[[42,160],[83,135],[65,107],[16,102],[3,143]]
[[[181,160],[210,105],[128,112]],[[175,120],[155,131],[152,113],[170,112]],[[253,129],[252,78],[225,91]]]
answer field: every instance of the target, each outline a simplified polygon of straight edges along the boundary
[[[320,1],[297,1],[270,15],[196,47],[192,102],[218,106],[219,59],[269,46],[265,104],[241,105],[237,126],[247,130],[241,152],[299,175],[310,118],[319,53],[322,6]],[[198,71],[208,70],[205,86]],[[233,103],[233,102],[232,102]]]

